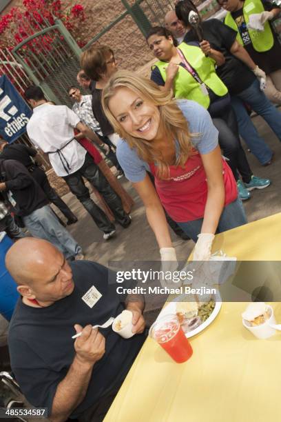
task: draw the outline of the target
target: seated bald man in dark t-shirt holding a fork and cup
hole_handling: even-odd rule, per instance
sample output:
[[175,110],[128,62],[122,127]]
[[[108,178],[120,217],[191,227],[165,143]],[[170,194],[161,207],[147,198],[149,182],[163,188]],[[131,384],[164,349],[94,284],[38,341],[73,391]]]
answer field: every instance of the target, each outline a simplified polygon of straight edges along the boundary
[[[98,263],[74,261],[48,241],[17,241],[6,266],[21,294],[9,331],[12,371],[28,401],[48,408],[52,422],[103,421],[143,345],[143,301],[124,298]],[[92,330],[124,309],[133,332],[123,339],[111,328]],[[72,339],[76,332],[81,336]]]

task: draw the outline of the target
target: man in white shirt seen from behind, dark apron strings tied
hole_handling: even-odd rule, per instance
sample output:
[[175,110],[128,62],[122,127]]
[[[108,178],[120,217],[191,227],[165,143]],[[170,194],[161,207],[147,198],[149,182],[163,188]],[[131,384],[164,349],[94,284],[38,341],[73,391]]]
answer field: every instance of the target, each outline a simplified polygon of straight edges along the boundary
[[71,192],[81,201],[98,228],[103,231],[103,238],[107,240],[112,237],[115,226],[90,198],[83,177],[101,192],[116,221],[126,228],[131,219],[123,210],[121,199],[107,183],[107,179],[87,150],[76,141],[74,129],[92,141],[102,144],[97,135],[82,123],[70,108],[48,103],[40,87],[30,86],[25,90],[25,98],[34,109],[27,125],[30,140],[49,155],[54,171],[63,177]]

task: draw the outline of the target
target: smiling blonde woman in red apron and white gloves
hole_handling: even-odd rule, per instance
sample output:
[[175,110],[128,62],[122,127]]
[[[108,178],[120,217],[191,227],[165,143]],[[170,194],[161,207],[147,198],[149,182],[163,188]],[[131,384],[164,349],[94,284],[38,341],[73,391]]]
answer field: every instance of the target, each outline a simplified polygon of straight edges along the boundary
[[194,101],[173,100],[154,82],[125,70],[112,76],[102,101],[122,139],[118,161],[145,204],[161,259],[176,260],[162,205],[196,241],[194,259],[209,259],[214,234],[247,219],[207,110]]

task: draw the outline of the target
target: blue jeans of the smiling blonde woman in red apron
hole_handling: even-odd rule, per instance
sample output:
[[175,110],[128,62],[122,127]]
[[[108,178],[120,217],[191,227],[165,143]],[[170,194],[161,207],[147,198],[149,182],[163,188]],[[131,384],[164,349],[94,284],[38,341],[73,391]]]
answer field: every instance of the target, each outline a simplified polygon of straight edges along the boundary
[[[178,222],[177,222],[178,223]],[[194,242],[198,241],[198,234],[201,232],[203,219],[193,220],[193,221],[186,221],[185,223],[178,223],[180,228],[190,237],[190,239],[194,240]],[[216,233],[225,232],[226,230],[230,230],[231,228],[239,227],[240,225],[247,223],[247,217],[244,212],[244,207],[242,205],[241,199],[236,199],[227,205],[220,216],[220,220],[218,221],[218,228]]]

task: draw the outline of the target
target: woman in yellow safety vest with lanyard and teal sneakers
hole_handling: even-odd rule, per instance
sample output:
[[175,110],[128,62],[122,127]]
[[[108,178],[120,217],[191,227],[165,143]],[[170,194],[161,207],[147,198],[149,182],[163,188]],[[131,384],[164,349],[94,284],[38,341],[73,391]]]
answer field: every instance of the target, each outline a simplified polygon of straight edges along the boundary
[[219,132],[220,148],[229,159],[236,179],[240,199],[251,197],[249,190],[253,188],[253,181],[260,188],[266,188],[270,184],[269,179],[260,179],[251,172],[240,143],[238,123],[230,106],[227,87],[216,74],[215,63],[224,63],[222,53],[211,49],[207,41],[202,41],[200,46],[198,43],[180,43],[177,48],[171,32],[160,26],[149,30],[147,43],[159,59],[152,66],[152,81],[163,90],[173,90],[176,98],[196,101],[211,114]]

